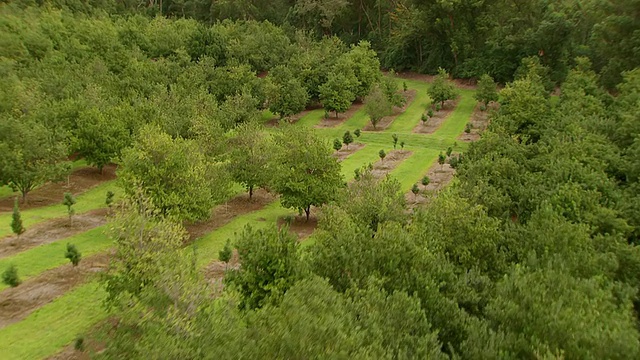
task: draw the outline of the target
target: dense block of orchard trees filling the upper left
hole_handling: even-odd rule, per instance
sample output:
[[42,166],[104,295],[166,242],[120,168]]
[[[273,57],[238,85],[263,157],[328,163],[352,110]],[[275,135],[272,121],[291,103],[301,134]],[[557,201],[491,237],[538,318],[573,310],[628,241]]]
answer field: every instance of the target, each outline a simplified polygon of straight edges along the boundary
[[378,88],[398,100],[367,42],[289,37],[268,22],[208,26],[10,4],[0,29],[0,183],[24,200],[64,178],[69,156],[102,169],[150,129],[194,143],[183,145],[217,168],[229,164],[235,138],[252,136],[236,128],[269,120],[266,110],[344,112]]

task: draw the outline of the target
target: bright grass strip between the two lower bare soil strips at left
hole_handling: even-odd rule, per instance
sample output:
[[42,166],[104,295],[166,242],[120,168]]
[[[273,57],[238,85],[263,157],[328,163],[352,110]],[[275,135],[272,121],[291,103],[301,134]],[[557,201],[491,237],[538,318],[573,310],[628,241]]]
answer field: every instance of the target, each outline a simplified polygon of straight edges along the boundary
[[[44,271],[69,264],[69,260],[64,257],[67,243],[74,244],[82,254],[82,257],[89,257],[105,251],[113,244],[104,234],[104,230],[104,226],[96,227],[64,240],[40,245],[14,256],[2,258],[0,259],[0,271],[4,271],[10,264],[14,264],[18,268],[20,280],[25,281],[40,275]],[[5,284],[0,284],[0,290],[6,288]]]

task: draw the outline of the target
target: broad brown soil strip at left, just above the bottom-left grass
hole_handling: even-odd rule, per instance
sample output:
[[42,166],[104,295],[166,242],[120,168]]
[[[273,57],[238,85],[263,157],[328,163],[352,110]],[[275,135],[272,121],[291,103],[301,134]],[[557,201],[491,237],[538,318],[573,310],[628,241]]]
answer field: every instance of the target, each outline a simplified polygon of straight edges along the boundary
[[82,259],[77,267],[59,266],[3,290],[0,292],[0,328],[23,320],[34,310],[86,282],[88,276],[106,269],[110,255],[101,253]]

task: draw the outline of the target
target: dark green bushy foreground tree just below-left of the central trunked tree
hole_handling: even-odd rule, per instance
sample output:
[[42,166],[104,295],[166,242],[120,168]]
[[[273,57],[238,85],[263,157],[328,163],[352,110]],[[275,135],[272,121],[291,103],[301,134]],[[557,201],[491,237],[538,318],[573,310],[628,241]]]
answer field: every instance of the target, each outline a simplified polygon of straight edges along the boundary
[[300,276],[298,239],[287,227],[253,230],[249,225],[235,240],[242,267],[225,283],[241,297],[239,307],[255,310],[278,304]]

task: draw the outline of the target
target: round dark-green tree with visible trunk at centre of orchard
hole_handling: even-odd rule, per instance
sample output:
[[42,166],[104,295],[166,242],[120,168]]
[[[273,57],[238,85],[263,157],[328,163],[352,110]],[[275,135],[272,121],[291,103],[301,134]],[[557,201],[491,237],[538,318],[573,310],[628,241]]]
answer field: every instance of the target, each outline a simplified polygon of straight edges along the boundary
[[271,188],[284,207],[304,211],[333,200],[342,186],[340,164],[331,148],[312,130],[288,126],[275,134],[275,171]]

